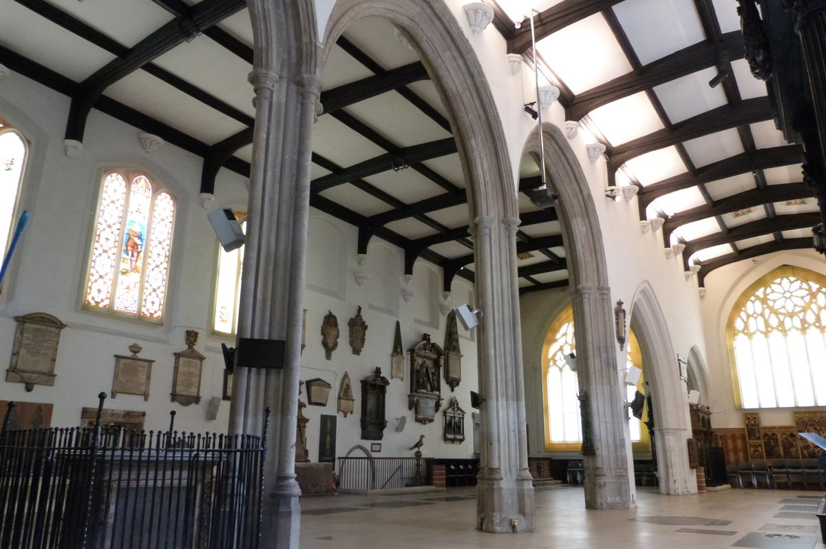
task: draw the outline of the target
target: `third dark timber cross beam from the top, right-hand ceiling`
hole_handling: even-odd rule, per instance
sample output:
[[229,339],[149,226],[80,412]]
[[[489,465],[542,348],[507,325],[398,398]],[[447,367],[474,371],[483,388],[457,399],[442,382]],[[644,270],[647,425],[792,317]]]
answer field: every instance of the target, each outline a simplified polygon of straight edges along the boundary
[[708,136],[718,131],[771,120],[771,117],[771,105],[768,98],[747,99],[737,106],[724,105],[714,108],[683,122],[677,122],[672,129],[654,131],[648,136],[616,146],[614,153],[608,159],[609,177],[613,181],[616,170],[625,162],[653,150]]

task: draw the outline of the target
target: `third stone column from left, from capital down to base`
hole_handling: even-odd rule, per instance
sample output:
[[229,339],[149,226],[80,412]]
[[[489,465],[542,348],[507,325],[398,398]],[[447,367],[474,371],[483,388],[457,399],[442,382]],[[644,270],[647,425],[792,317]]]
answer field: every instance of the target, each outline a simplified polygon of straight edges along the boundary
[[577,376],[581,394],[582,453],[585,465],[585,506],[589,509],[628,508],[628,458],[624,437],[624,395],[615,364],[610,288],[577,286],[573,295],[577,330]]

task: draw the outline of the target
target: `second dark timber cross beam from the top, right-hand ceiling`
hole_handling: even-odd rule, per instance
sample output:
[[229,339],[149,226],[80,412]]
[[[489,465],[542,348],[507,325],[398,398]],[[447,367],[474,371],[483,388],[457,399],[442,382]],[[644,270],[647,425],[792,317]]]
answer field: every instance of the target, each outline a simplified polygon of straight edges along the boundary
[[693,74],[698,70],[713,67],[720,60],[729,62],[743,59],[743,51],[743,35],[739,31],[724,34],[719,43],[705,40],[690,45],[580,93],[573,98],[568,107],[566,119],[578,121],[597,107]]

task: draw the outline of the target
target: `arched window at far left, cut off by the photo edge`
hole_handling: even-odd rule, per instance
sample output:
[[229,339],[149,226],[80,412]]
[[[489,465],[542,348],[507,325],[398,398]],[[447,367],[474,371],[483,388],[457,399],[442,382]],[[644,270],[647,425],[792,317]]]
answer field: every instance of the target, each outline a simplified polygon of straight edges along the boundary
[[0,264],[12,243],[28,151],[26,139],[0,118]]

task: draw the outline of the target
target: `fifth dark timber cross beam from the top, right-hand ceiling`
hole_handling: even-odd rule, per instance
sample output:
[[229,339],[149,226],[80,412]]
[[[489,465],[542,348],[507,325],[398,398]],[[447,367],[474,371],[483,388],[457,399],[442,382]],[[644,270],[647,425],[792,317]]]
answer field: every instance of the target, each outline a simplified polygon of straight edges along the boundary
[[662,224],[662,232],[665,241],[670,241],[669,237],[672,232],[677,227],[688,223],[700,221],[707,217],[723,215],[724,213],[738,212],[744,208],[754,208],[756,206],[771,205],[775,202],[786,202],[786,200],[797,200],[812,196],[814,196],[814,191],[803,183],[769,185],[766,189],[751,189],[721,198],[713,206],[698,206],[676,213]]

